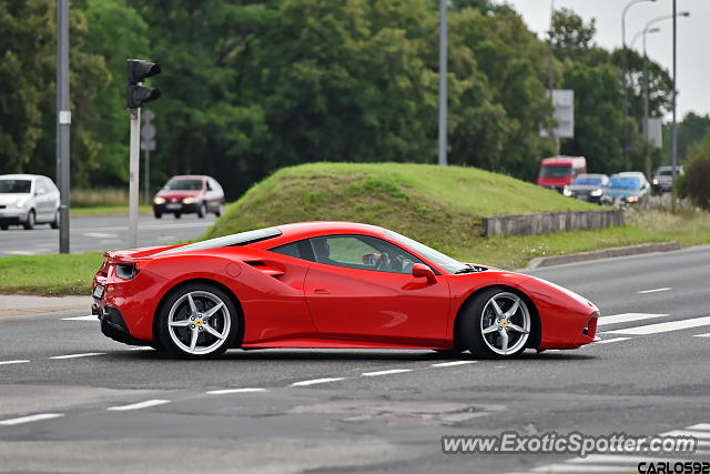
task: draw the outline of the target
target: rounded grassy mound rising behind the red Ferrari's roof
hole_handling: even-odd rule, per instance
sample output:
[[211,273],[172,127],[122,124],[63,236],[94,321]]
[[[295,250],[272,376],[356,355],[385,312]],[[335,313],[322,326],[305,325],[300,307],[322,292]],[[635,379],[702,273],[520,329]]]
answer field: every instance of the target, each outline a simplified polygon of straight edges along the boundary
[[455,258],[480,248],[481,218],[599,209],[474,168],[311,163],[278,170],[248,190],[205,238],[301,221],[382,225]]

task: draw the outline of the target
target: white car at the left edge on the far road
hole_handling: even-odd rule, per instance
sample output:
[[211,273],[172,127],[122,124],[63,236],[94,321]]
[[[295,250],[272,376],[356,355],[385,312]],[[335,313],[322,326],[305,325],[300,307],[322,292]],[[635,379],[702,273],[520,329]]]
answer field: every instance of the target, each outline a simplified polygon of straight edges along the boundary
[[47,177],[39,174],[0,175],[0,230],[34,224],[59,228],[59,190]]

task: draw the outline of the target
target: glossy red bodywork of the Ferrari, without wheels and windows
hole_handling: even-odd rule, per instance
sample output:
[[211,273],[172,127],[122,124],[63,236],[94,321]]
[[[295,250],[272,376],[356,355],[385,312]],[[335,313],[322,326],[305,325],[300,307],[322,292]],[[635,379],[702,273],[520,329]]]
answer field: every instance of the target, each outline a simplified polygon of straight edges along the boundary
[[[538,350],[574,349],[594,341],[598,309],[542,280],[501,271],[452,274],[396,241],[382,228],[346,222],[281,225],[282,234],[242,246],[153,255],[171,249],[106,252],[94,278],[104,285],[94,312],[118,309],[131,336],[153,341],[153,316],[176,285],[210,281],[234,295],[243,317],[241,346],[450,349],[456,316],[476,292],[507,286],[523,293],[539,316]],[[423,260],[434,284],[410,274],[317,263],[271,252],[320,235],[358,234],[386,240]],[[176,245],[173,245],[176,246]],[[116,264],[135,264],[133,279]]]

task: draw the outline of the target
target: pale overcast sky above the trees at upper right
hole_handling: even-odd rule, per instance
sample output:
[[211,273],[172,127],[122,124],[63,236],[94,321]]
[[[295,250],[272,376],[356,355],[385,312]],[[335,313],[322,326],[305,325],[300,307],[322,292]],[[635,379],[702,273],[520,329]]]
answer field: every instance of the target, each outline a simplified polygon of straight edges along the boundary
[[[555,9],[568,8],[588,21],[597,19],[597,44],[621,48],[621,12],[630,0],[505,0],[530,30],[544,38],[550,24],[550,2]],[[500,3],[504,1],[500,0]],[[678,11],[689,11],[690,17],[678,18],[678,120],[689,112],[710,113],[710,0],[677,0]],[[629,8],[626,14],[627,46],[636,32],[650,20],[672,14],[672,0],[641,1]],[[672,20],[655,27],[661,31],[647,34],[647,53],[669,72],[672,68]],[[641,52],[641,38],[635,49]],[[670,118],[670,115],[668,117]]]

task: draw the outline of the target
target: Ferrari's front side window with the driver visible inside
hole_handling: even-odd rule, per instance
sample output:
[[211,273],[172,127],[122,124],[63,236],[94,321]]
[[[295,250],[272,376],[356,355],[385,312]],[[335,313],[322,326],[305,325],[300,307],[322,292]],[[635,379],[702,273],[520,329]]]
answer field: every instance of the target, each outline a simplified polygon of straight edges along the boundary
[[409,273],[419,259],[382,239],[332,235],[311,239],[315,261],[348,269]]

